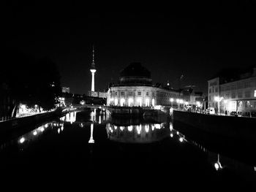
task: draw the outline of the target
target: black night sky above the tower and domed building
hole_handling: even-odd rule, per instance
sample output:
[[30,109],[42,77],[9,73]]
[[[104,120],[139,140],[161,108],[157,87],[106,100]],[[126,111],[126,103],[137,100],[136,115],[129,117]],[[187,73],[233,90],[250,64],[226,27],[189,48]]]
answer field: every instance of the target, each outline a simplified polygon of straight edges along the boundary
[[1,45],[51,58],[72,93],[91,88],[93,44],[96,90],[106,90],[121,69],[139,61],[154,82],[169,80],[177,88],[183,74],[181,85],[206,92],[207,80],[222,67],[255,64],[255,18],[251,1],[149,8],[11,3],[1,7]]

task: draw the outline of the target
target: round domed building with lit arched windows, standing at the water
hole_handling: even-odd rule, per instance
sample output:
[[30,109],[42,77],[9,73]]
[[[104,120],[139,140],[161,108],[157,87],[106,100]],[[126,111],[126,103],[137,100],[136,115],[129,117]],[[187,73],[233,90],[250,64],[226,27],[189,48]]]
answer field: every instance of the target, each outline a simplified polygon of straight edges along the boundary
[[136,62],[121,71],[117,84],[110,85],[107,104],[121,107],[170,106],[170,98],[181,99],[181,94],[173,89],[154,85],[151,72]]

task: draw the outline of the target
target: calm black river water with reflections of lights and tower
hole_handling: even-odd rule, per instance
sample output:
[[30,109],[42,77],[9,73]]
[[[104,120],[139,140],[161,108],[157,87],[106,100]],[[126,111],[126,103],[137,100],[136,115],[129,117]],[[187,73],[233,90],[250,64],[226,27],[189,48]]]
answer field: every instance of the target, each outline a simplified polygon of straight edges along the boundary
[[1,144],[0,164],[1,183],[23,188],[254,191],[256,184],[254,166],[208,151],[166,117],[113,119],[97,110],[68,113]]

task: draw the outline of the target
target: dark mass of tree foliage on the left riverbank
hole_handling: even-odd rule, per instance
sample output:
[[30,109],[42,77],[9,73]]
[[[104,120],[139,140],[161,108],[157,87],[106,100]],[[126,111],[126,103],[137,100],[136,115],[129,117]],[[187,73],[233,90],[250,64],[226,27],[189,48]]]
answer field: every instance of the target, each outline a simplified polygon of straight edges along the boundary
[[5,67],[1,69],[0,82],[8,86],[12,99],[10,115],[20,103],[29,107],[37,104],[44,110],[55,107],[61,86],[60,75],[53,61],[49,58],[36,60],[18,50],[2,51],[1,61]]

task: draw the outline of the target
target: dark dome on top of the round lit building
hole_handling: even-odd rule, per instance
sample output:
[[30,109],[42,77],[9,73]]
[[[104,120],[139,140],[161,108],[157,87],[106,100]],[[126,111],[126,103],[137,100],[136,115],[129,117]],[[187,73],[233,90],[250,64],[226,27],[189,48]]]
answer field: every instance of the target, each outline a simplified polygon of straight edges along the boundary
[[121,84],[146,84],[151,85],[151,72],[140,63],[129,64],[120,73]]

